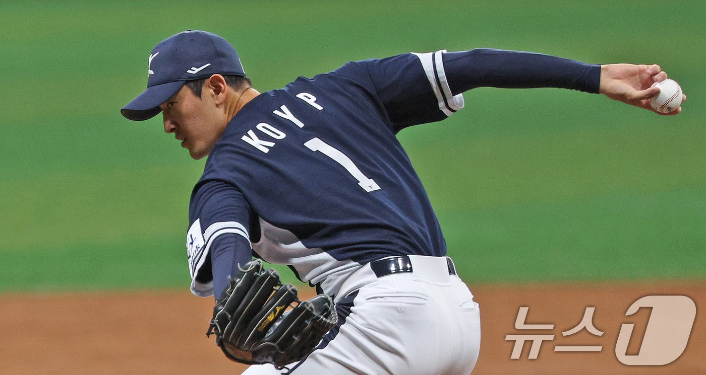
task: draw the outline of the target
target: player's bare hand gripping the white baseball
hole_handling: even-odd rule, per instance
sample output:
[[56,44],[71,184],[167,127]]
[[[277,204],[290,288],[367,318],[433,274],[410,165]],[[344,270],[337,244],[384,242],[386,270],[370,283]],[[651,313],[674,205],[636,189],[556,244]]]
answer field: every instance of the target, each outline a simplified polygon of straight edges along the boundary
[[[666,73],[656,64],[602,65],[599,92],[623,103],[638,106],[660,115],[673,116],[681,112],[681,106],[670,113],[660,113],[650,106],[650,98],[659,94],[659,87],[652,87],[652,84],[663,80],[666,80]],[[686,95],[683,95],[682,102],[685,100]]]

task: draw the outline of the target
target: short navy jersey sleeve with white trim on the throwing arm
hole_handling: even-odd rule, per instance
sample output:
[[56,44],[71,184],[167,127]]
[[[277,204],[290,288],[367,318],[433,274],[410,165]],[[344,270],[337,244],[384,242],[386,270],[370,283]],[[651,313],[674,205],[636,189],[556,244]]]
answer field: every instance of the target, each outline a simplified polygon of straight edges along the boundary
[[451,94],[443,51],[407,53],[347,63],[334,73],[361,82],[383,104],[393,128],[441,121],[462,109],[462,94]]

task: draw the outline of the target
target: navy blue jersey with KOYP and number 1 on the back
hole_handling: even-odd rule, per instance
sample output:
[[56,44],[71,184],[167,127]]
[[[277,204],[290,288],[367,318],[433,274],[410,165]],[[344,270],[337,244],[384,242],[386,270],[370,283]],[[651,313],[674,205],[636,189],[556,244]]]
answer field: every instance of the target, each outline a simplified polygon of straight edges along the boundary
[[[395,135],[463,107],[450,89],[444,55],[457,64],[449,75],[465,77],[463,59],[486,59],[487,51],[349,62],[246,104],[191,195],[192,293],[213,293],[211,262],[236,264],[251,254],[288,264],[330,295],[371,260],[446,254],[429,198]],[[498,56],[493,61],[513,59]],[[457,90],[479,85],[457,81]],[[217,260],[216,252],[230,255]]]

